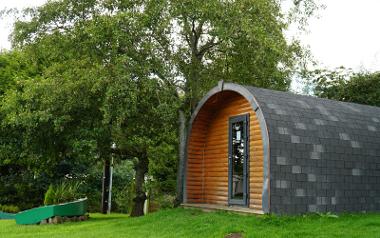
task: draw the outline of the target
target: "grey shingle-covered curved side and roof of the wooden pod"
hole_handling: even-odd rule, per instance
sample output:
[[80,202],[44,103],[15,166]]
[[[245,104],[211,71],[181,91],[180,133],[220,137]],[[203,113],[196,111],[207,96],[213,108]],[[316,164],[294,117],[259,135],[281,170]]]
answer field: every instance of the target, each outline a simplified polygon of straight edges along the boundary
[[246,88],[268,127],[272,212],[380,211],[380,108]]

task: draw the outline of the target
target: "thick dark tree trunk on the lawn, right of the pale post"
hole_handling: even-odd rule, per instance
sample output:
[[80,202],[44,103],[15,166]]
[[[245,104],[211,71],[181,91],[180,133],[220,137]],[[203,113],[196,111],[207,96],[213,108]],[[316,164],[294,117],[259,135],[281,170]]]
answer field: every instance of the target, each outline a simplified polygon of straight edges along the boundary
[[133,199],[133,208],[131,211],[131,217],[144,216],[144,203],[146,200],[146,194],[144,191],[144,179],[145,174],[148,172],[149,160],[146,156],[139,158],[139,161],[135,165],[136,178],[135,178],[135,193],[136,196]]

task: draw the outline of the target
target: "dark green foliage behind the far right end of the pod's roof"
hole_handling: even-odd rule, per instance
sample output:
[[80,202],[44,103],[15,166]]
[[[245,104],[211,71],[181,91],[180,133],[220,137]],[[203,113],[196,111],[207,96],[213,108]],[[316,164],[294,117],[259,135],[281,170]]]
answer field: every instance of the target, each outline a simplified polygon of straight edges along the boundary
[[316,96],[380,106],[380,73],[354,73],[344,68],[314,72]]

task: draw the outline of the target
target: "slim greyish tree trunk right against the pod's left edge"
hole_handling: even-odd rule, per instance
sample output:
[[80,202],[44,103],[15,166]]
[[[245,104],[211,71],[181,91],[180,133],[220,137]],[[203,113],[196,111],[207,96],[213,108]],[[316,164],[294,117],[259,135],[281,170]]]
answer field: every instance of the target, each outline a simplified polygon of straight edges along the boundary
[[184,184],[184,168],[186,156],[186,117],[182,110],[179,110],[179,160],[177,170],[177,197],[175,206],[183,203],[183,184]]

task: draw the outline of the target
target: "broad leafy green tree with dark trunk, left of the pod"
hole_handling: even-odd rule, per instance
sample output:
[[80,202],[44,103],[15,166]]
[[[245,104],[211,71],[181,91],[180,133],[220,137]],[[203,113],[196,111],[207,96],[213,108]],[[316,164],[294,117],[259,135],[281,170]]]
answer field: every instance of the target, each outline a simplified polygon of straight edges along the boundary
[[2,107],[35,169],[52,171],[63,160],[109,164],[112,154],[133,160],[132,216],[143,214],[144,177],[157,159],[148,151],[176,141],[175,88],[157,77],[166,74],[148,34],[157,23],[141,6],[65,0],[31,10],[30,21],[16,22],[13,44],[41,77],[11,90]]

